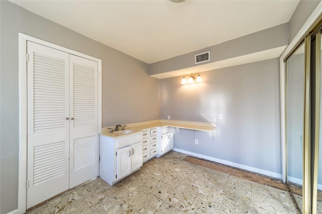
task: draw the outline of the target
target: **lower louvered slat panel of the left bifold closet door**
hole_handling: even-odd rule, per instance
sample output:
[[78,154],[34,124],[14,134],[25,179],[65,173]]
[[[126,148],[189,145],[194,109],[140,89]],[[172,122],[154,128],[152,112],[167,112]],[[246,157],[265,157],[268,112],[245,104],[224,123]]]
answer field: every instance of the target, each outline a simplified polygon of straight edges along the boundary
[[65,173],[66,142],[34,147],[34,185]]

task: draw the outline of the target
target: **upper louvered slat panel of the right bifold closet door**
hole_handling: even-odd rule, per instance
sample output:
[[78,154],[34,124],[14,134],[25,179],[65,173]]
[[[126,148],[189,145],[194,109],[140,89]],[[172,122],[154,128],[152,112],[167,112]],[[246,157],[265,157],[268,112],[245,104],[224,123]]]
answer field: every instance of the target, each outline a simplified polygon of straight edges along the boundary
[[74,127],[94,125],[95,69],[73,63],[73,122]]

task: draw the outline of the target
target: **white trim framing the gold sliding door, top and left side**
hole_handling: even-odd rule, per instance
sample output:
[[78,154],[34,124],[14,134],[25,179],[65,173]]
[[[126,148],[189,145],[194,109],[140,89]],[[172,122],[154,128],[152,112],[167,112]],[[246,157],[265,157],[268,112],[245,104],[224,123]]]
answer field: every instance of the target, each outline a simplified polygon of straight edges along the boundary
[[322,2],[320,2],[313,13],[306,20],[302,28],[296,34],[292,42],[286,48],[282,56],[280,57],[280,99],[281,99],[281,144],[282,144],[282,179],[286,181],[286,169],[287,169],[287,161],[286,161],[286,101],[285,101],[285,63],[284,59],[291,52],[291,50],[295,47],[295,45],[299,42],[299,40],[304,36],[304,34],[308,31],[308,29],[314,24],[314,22],[318,19],[318,17],[322,14]]

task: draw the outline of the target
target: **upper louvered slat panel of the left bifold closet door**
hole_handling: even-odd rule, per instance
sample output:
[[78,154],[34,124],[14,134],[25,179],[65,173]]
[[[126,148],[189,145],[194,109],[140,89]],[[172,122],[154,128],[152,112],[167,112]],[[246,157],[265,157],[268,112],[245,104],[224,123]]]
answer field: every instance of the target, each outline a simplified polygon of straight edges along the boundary
[[[34,132],[65,127],[65,62],[34,53]],[[39,120],[38,118],[42,118]]]

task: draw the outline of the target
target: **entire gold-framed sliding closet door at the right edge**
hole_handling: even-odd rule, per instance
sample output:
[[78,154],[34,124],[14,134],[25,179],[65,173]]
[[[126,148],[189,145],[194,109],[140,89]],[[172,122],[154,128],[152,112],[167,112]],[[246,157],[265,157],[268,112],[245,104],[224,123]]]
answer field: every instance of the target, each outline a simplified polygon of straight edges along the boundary
[[287,184],[302,213],[322,213],[322,26],[285,60]]

